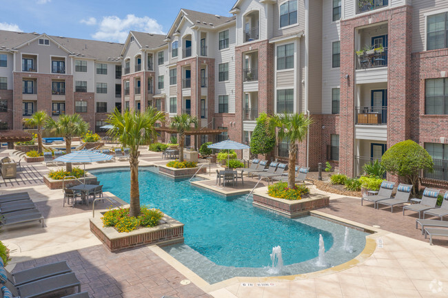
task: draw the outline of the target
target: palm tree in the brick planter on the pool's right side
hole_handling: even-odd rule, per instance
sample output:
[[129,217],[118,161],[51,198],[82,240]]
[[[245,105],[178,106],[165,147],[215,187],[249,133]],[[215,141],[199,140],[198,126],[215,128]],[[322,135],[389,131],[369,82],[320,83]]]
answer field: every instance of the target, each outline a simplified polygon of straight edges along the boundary
[[302,142],[307,136],[309,125],[313,123],[312,118],[305,114],[277,114],[272,117],[272,123],[278,127],[278,139],[289,142],[289,164],[288,164],[288,187],[295,184],[294,169],[296,167],[297,142]]

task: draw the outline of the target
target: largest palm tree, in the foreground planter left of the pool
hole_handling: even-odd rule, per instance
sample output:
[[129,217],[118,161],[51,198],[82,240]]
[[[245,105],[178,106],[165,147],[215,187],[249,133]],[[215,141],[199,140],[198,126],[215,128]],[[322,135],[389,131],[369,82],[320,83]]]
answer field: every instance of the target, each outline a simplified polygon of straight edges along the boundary
[[130,148],[129,163],[131,168],[130,216],[140,214],[139,191],[139,146],[148,145],[156,138],[156,121],[164,121],[165,114],[154,107],[146,111],[125,111],[118,109],[109,116],[107,123],[114,128],[108,130],[109,136],[118,138],[123,147]]

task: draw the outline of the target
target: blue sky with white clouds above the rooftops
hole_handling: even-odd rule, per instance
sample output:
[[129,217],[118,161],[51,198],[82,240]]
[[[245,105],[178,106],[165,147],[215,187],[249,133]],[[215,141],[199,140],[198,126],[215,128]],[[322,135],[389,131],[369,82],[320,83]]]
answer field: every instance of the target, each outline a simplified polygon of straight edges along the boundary
[[129,30],[163,34],[181,8],[230,16],[235,0],[0,0],[0,30],[123,42]]

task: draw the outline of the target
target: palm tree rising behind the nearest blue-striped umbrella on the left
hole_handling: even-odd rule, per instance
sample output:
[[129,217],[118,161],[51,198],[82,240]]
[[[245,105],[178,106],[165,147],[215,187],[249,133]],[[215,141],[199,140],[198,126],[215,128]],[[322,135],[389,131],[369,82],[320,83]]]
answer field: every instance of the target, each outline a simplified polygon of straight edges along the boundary
[[[57,120],[48,118],[45,129],[65,138],[65,152],[72,152],[72,138],[88,132],[89,124],[79,114],[61,115]],[[72,171],[72,163],[65,164],[65,171]]]

